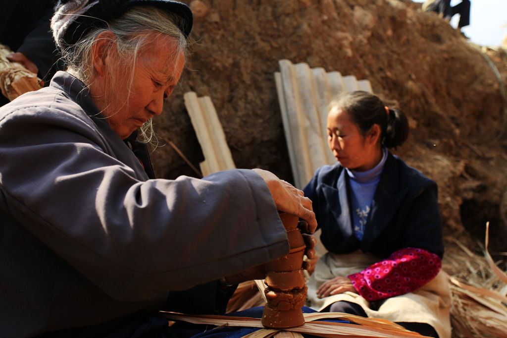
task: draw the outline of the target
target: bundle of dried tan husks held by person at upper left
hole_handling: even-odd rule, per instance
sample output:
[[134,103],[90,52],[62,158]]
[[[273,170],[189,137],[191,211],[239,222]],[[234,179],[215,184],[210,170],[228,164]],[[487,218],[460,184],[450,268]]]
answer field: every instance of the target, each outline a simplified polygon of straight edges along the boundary
[[7,55],[11,53],[9,47],[0,44],[0,89],[2,94],[12,101],[19,95],[42,86],[37,74],[28,71],[21,63],[7,59]]

